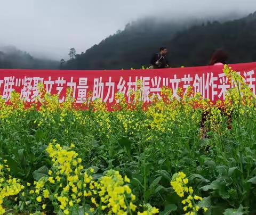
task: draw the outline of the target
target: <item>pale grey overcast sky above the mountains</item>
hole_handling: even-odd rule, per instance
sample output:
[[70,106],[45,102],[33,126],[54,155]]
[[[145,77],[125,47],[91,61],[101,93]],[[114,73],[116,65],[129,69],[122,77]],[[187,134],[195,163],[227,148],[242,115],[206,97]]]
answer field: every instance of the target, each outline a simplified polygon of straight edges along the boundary
[[0,0],[0,46],[60,60],[69,48],[86,51],[145,16],[218,18],[254,11],[256,0]]

